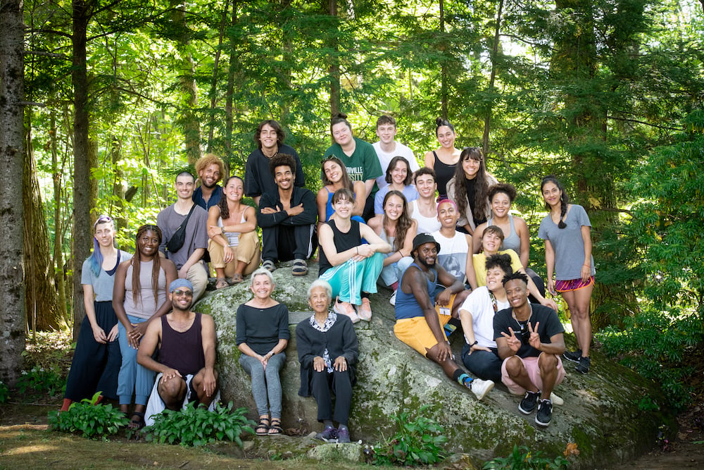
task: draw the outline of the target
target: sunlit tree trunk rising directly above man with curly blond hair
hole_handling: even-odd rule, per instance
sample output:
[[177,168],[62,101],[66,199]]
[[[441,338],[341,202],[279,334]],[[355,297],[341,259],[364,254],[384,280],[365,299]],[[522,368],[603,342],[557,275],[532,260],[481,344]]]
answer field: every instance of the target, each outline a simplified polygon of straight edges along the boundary
[[186,22],[186,9],[182,0],[171,0],[173,8],[172,21],[180,30],[176,42],[176,50],[180,60],[181,75],[179,78],[182,93],[181,125],[186,141],[186,156],[188,163],[193,165],[201,158],[201,125],[196,116],[198,106],[198,86],[193,57],[189,51],[191,42],[190,30]]

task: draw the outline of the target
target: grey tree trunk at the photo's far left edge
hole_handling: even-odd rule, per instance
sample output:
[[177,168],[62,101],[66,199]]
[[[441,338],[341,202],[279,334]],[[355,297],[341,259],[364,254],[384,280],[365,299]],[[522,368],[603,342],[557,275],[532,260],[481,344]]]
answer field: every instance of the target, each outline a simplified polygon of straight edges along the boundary
[[25,99],[21,0],[0,4],[0,380],[14,385],[25,350],[22,168]]

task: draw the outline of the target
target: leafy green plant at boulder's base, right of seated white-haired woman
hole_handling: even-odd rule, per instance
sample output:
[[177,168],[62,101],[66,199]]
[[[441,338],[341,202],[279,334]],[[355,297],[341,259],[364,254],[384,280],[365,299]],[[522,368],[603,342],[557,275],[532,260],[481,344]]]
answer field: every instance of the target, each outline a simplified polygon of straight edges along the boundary
[[392,416],[398,424],[398,432],[372,447],[375,465],[431,465],[447,457],[445,429],[433,419],[422,416],[429,407],[420,407],[415,419],[408,412]]

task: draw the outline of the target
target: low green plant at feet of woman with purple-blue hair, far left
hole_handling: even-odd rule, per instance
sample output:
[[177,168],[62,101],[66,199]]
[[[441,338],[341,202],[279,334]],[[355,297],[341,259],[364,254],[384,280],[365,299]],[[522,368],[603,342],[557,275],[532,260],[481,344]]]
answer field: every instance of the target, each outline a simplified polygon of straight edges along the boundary
[[68,411],[49,412],[49,426],[65,433],[80,431],[84,438],[89,439],[118,433],[129,420],[111,404],[96,404],[100,394],[96,392],[91,400],[86,398],[80,403],[72,403]]

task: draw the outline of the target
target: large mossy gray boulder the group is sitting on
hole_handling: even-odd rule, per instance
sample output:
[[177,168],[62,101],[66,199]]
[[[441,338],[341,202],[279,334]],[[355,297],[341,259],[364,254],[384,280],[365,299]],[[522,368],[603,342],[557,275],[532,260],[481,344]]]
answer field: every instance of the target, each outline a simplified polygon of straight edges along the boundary
[[[317,273],[315,264],[311,264],[308,276],[299,278],[291,276],[286,267],[273,273],[273,297],[291,311],[291,341],[282,371],[283,425],[301,434],[322,428],[316,421],[313,397],[298,396],[295,335],[295,323],[310,316],[306,291]],[[239,366],[240,352],[235,345],[237,307],[251,298],[247,283],[249,278],[241,285],[208,292],[195,309],[215,319],[223,400],[248,407],[256,418],[251,382]],[[439,366],[396,339],[390,294],[389,290],[381,290],[372,295],[372,321],[356,324],[360,364],[349,423],[353,439],[377,443],[396,431],[391,416],[431,404],[428,413],[445,426],[448,449],[468,454],[477,465],[497,455],[507,455],[515,444],[556,457],[567,443],[577,443],[580,454],[572,468],[586,469],[629,459],[653,445],[658,426],[674,425],[670,415],[639,410],[638,404],[646,394],[655,397],[659,404],[666,404],[653,383],[598,352],[593,354],[589,375],[574,372],[565,364],[567,376],[555,390],[565,404],[553,409],[553,421],[546,429],[536,426],[534,415],[518,412],[520,397],[510,395],[502,384],[479,402],[466,388],[448,380]],[[460,336],[453,335],[455,357],[459,357],[462,348]]]

